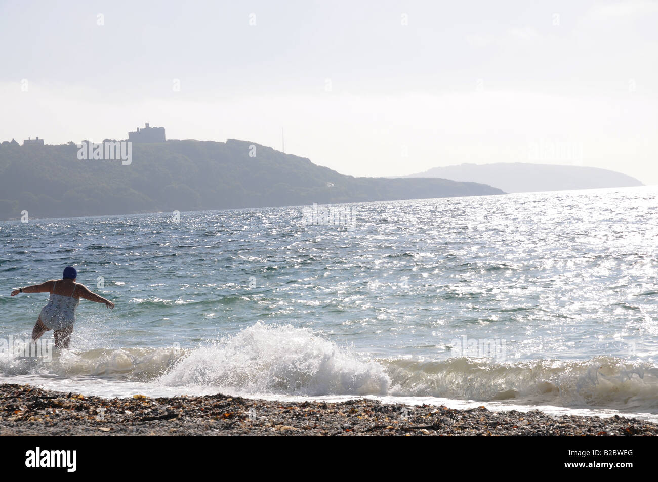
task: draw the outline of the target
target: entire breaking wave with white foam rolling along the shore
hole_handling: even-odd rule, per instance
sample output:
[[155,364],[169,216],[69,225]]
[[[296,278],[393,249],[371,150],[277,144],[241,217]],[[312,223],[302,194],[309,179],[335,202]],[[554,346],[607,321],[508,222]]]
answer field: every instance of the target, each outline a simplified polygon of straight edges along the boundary
[[65,350],[51,363],[5,358],[0,374],[30,375],[30,383],[39,383],[38,377],[66,380],[83,393],[83,381],[93,378],[117,387],[128,383],[133,392],[169,395],[434,397],[658,413],[658,367],[649,362],[371,360],[309,328],[261,322],[188,350]]

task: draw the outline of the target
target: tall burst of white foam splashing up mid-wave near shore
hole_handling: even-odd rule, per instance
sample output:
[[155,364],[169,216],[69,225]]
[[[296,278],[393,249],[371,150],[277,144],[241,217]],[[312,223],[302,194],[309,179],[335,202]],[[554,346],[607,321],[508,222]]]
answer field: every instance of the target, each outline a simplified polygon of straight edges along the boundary
[[384,395],[390,379],[381,364],[360,360],[311,329],[257,323],[192,350],[159,383],[242,393]]

